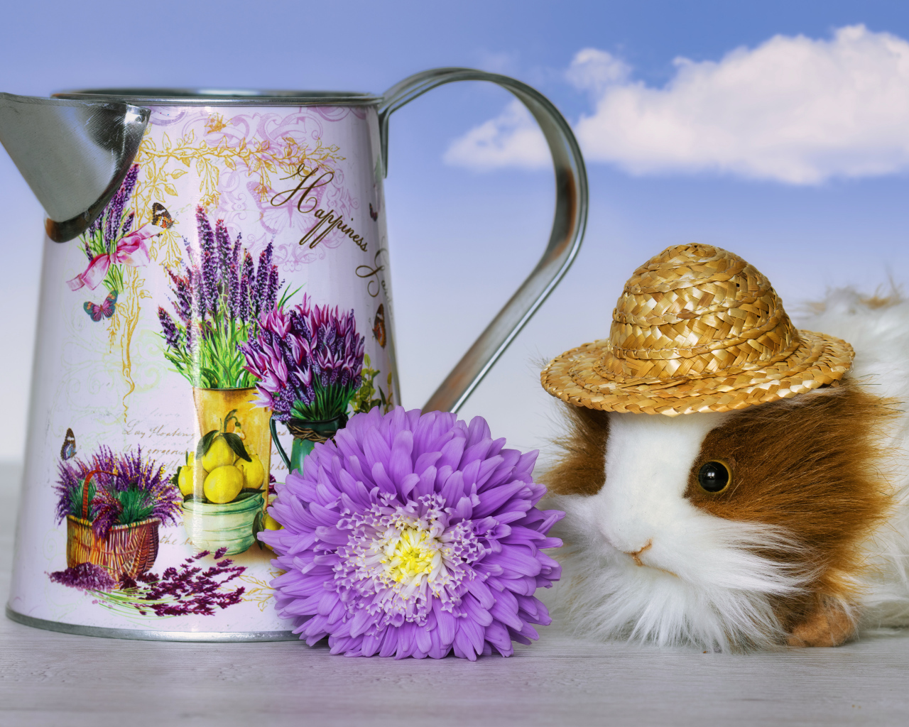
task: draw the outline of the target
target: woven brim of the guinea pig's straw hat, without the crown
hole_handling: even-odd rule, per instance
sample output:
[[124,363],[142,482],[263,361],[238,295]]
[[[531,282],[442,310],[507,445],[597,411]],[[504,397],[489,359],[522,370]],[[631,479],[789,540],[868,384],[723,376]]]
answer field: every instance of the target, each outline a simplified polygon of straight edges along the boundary
[[852,367],[855,354],[845,341],[812,331],[799,336],[802,344],[791,355],[763,368],[661,383],[614,381],[601,365],[609,341],[594,341],[554,358],[540,380],[547,392],[588,409],[667,416],[731,412],[830,385]]

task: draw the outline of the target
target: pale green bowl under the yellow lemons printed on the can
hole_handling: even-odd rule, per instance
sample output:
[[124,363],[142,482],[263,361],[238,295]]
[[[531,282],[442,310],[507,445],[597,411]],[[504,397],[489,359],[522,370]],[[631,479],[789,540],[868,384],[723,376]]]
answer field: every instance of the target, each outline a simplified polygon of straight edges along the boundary
[[215,553],[219,548],[226,548],[227,555],[244,553],[255,543],[255,516],[264,504],[262,493],[236,503],[187,500],[183,503],[186,534],[199,550]]

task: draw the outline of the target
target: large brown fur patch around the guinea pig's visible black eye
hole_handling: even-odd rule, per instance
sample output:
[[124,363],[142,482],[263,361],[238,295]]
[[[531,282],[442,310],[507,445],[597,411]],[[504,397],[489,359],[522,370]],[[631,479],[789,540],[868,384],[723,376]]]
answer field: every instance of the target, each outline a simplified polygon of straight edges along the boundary
[[[854,601],[853,576],[866,567],[859,545],[892,505],[880,434],[896,413],[893,402],[846,383],[736,412],[704,437],[685,496],[717,517],[784,527],[802,552],[766,554],[814,573],[805,595],[774,604],[799,642],[838,644],[853,631],[832,604]],[[732,470],[722,493],[698,484],[711,460]]]

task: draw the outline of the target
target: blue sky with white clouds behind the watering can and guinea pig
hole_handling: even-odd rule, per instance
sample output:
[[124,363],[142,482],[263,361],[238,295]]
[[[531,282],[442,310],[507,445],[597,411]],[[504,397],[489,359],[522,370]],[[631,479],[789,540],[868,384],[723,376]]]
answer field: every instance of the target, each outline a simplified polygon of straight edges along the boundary
[[[624,280],[666,245],[742,254],[791,313],[829,286],[909,280],[902,2],[34,2],[5,9],[5,28],[0,90],[16,94],[125,85],[380,93],[425,68],[467,65],[550,96],[588,156],[584,249],[462,410],[522,446],[554,433],[536,359],[606,335]],[[579,56],[585,49],[595,53]],[[461,84],[392,120],[386,199],[407,405],[432,393],[548,236],[552,174],[533,134],[514,136],[522,122],[508,112],[504,91]],[[10,384],[0,458],[15,459],[42,214],[5,154],[0,215],[15,342],[0,364]]]

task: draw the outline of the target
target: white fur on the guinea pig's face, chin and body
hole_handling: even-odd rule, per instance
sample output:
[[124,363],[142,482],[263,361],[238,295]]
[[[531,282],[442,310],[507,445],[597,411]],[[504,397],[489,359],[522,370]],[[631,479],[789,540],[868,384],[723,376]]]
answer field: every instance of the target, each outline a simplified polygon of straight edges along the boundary
[[[824,314],[799,323],[853,344],[849,375],[868,391],[909,401],[909,303],[872,310],[857,294],[837,291]],[[564,577],[554,605],[580,632],[724,651],[780,642],[768,598],[794,593],[811,573],[755,550],[797,546],[779,528],[724,520],[684,498],[704,435],[727,416],[609,414],[603,488],[589,497],[556,498],[567,515],[560,528]],[[865,627],[909,622],[909,416],[900,417],[889,437],[894,456],[882,467],[899,506],[865,543],[877,566],[860,583]]]

